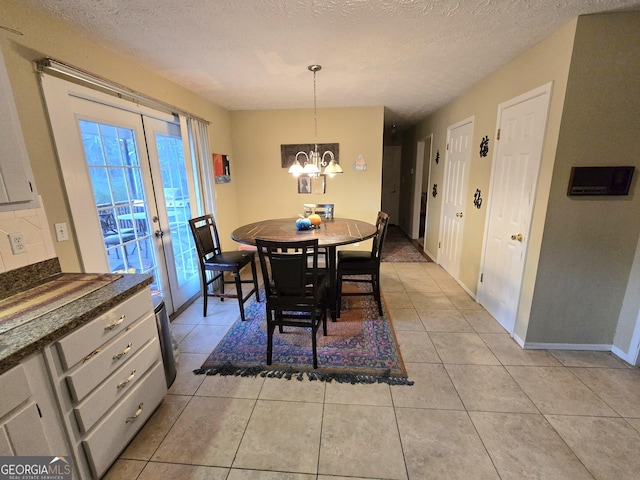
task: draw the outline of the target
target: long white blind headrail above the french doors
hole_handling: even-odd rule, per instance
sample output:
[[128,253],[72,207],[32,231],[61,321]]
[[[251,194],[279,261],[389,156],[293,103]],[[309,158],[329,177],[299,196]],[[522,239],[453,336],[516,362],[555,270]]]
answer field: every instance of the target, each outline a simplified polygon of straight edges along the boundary
[[161,100],[156,100],[155,98],[149,97],[144,93],[136,92],[135,90],[131,90],[128,87],[120,85],[119,83],[112,82],[111,80],[107,80],[102,77],[98,77],[92,73],[86,72],[59,60],[55,60],[50,57],[45,57],[36,61],[36,65],[39,72],[45,73],[57,73],[58,75],[62,75],[63,77],[69,79],[74,79],[76,81],[80,81],[82,83],[86,83],[92,85],[94,87],[99,87],[104,89],[110,93],[115,93],[120,98],[129,98],[135,102],[143,104],[148,107],[153,107],[158,110],[162,110],[168,113],[178,113],[185,115],[189,118],[194,118],[200,122],[204,122],[209,125],[211,122],[205,120],[203,118],[198,117],[192,113],[187,112],[186,110],[182,110],[181,108],[175,107],[168,103],[165,103]]

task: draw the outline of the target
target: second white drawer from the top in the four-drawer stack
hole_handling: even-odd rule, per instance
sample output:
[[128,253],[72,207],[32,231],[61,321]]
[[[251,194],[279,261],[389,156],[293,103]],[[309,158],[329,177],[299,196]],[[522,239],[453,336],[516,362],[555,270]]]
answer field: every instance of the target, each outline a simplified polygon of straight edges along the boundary
[[67,386],[74,402],[82,400],[151,339],[158,338],[153,313],[131,326],[128,332],[102,347],[86,363],[67,375]]

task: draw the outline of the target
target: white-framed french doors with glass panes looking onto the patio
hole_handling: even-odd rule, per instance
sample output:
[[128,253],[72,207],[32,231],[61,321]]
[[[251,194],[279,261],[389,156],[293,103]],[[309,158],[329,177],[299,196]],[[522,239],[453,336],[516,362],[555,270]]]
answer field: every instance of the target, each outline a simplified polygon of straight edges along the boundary
[[48,75],[42,84],[83,269],[150,273],[172,313],[199,291],[179,121]]

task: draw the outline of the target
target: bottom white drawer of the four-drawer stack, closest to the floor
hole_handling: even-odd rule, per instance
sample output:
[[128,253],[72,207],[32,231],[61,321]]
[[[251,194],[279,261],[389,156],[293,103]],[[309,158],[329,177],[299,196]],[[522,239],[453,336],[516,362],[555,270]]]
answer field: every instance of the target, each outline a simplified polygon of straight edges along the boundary
[[[158,363],[86,436],[82,445],[93,475],[100,478],[162,401],[167,391]],[[136,413],[140,411],[137,417]],[[135,417],[135,418],[134,418]]]

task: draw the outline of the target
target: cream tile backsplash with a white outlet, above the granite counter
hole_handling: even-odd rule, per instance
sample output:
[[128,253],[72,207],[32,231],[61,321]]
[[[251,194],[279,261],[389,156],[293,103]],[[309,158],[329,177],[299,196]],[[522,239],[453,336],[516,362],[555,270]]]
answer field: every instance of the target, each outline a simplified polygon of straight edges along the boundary
[[[26,252],[13,254],[9,243],[10,233],[22,233],[27,245]],[[0,272],[25,267],[55,256],[49,222],[42,206],[0,212]]]

